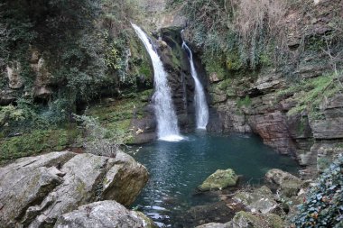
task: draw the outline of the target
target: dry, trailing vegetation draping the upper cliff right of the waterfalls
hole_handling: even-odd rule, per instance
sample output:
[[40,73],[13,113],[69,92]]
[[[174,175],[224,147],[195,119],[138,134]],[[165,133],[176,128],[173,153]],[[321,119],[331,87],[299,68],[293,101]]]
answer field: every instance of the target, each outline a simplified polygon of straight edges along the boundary
[[[329,3],[321,7],[310,0],[172,1],[175,4],[183,5],[187,16],[187,40],[199,50],[208,73],[219,79],[271,67],[294,79],[305,56],[321,55],[320,66],[341,65],[340,6],[329,9]],[[329,23],[319,25],[316,18],[324,14]]]

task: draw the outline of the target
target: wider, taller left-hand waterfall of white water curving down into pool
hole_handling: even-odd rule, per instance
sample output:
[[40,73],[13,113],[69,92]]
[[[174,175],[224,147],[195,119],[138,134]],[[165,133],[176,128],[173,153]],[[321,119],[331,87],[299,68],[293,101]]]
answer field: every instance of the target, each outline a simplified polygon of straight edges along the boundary
[[172,105],[172,93],[168,86],[167,73],[163,68],[162,60],[153,49],[153,44],[149,41],[145,32],[134,23],[132,23],[132,26],[139,39],[143,41],[153,62],[155,89],[153,94],[153,106],[157,119],[158,138],[162,141],[181,141],[183,138],[180,135],[178,119],[174,111],[174,105]]

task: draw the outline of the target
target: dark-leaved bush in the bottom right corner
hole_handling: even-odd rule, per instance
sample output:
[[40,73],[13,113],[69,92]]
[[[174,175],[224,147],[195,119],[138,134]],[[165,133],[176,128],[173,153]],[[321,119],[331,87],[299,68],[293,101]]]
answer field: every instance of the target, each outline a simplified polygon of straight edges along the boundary
[[[326,169],[299,206],[293,227],[343,227],[343,155]],[[295,226],[294,226],[295,225]]]

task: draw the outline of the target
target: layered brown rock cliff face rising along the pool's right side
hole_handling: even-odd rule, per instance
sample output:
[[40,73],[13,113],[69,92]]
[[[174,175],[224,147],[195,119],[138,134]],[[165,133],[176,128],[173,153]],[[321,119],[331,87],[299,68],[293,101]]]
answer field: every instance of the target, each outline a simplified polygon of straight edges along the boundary
[[[334,32],[334,16],[342,14],[341,9],[338,2],[307,1],[303,11],[293,9],[287,14],[287,45],[292,56],[287,69],[262,68],[226,80],[210,75],[209,93],[220,123],[209,128],[255,132],[267,145],[307,166],[304,174],[311,176],[325,167],[333,154],[342,151],[343,142],[342,88],[333,86],[340,85],[342,78],[328,76],[334,70],[328,51],[339,50],[342,43],[330,41],[332,50],[325,50],[323,38]],[[301,83],[301,89],[293,89]],[[311,87],[321,87],[320,93]]]

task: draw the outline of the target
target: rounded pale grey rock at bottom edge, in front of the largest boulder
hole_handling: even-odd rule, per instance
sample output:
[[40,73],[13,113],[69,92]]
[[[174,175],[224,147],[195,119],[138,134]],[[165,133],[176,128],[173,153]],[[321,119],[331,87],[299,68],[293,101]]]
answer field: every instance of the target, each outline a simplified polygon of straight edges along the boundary
[[129,211],[116,201],[101,201],[79,206],[78,210],[62,214],[55,228],[155,228],[153,221],[140,212]]

